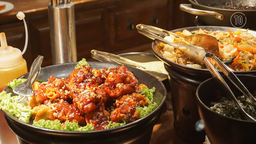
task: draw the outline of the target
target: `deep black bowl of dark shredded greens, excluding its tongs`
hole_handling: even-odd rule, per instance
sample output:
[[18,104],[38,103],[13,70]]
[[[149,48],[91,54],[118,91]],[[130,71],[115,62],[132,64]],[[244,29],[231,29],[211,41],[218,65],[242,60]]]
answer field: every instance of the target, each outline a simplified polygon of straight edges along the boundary
[[[256,97],[256,76],[237,75],[244,86]],[[247,99],[226,76],[224,80],[230,86],[243,109],[256,118],[256,106]],[[225,87],[217,78],[210,78],[199,85],[196,91],[200,118],[211,144],[253,144],[256,142],[256,122],[245,120],[237,106],[231,101]]]

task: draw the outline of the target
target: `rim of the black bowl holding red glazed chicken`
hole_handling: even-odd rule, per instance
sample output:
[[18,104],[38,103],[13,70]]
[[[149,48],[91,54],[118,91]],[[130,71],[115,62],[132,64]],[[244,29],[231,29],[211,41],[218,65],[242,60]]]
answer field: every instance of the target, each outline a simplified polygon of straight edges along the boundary
[[[76,64],[77,62],[70,62],[72,64]],[[95,63],[109,63],[109,64],[117,64],[117,63],[111,63],[111,62],[95,62]],[[47,66],[47,67],[44,67],[44,68],[51,68],[51,67],[54,67],[54,66],[59,66],[59,65],[62,65],[62,64],[68,64],[68,63],[61,63],[61,64],[55,64],[55,65],[51,65],[51,66]],[[117,64],[117,65],[121,65],[121,64]],[[129,66],[126,66],[126,67],[129,67]],[[134,68],[134,67],[132,67]],[[43,68],[42,68],[43,69]],[[141,71],[140,69],[138,68],[134,68],[134,69],[137,69],[139,71]],[[145,72],[145,71],[143,71]],[[148,73],[148,72],[146,72]],[[27,74],[27,73],[26,73]],[[148,73],[150,74],[150,73]],[[24,74],[25,75],[25,74]],[[11,119],[14,123],[16,124],[20,124],[20,125],[23,125],[24,127],[29,127],[31,129],[35,129],[35,130],[41,130],[41,131],[44,131],[44,132],[48,132],[48,133],[58,133],[58,134],[81,134],[81,133],[94,133],[94,134],[99,134],[99,133],[105,133],[105,132],[118,132],[120,130],[124,130],[124,129],[130,129],[130,128],[133,128],[133,127],[136,127],[137,125],[134,125],[134,124],[137,124],[137,123],[141,123],[144,119],[147,119],[147,118],[150,118],[153,114],[155,114],[163,105],[163,103],[165,102],[166,100],[166,95],[167,95],[167,91],[166,91],[166,88],[165,86],[163,85],[163,83],[158,79],[156,78],[154,75],[150,74],[151,76],[153,76],[158,82],[160,82],[160,84],[162,85],[162,87],[164,88],[164,95],[163,95],[163,99],[162,101],[159,103],[159,105],[157,105],[157,107],[149,114],[147,114],[146,116],[140,118],[140,119],[137,119],[136,121],[133,121],[131,123],[128,123],[128,124],[125,124],[123,126],[119,126],[119,127],[115,127],[115,128],[110,128],[110,129],[104,129],[104,130],[93,130],[93,131],[61,131],[61,130],[53,130],[53,129],[46,129],[46,128],[41,128],[41,127],[37,127],[37,126],[33,126],[31,124],[28,124],[28,123],[24,123],[23,121],[20,121],[18,119],[16,119],[15,117],[13,117],[12,115],[10,115],[7,111],[3,111],[4,115],[6,117],[8,117],[9,119]],[[23,76],[23,75],[22,75]],[[22,77],[20,76],[20,77]]]

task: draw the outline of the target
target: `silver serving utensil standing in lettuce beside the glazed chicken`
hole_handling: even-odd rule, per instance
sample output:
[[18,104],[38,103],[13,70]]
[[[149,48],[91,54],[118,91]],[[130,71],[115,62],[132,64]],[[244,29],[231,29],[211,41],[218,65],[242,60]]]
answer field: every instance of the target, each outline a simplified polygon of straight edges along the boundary
[[28,78],[25,82],[17,85],[14,89],[13,92],[22,95],[18,101],[23,102],[25,105],[28,102],[27,97],[28,96],[33,96],[33,88],[32,84],[37,80],[37,77],[39,75],[40,69],[41,69],[41,64],[43,61],[43,56],[38,56],[32,63],[30,67],[30,71],[28,74]]

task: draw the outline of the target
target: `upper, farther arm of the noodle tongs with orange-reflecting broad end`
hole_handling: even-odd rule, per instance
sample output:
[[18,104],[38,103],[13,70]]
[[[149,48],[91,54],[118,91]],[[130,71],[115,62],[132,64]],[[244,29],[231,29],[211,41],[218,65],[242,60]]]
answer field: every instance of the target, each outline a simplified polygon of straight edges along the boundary
[[190,44],[202,47],[206,52],[219,52],[218,40],[210,34],[199,33],[191,35],[180,35],[154,26],[139,24],[138,27],[140,29],[148,30],[159,35],[174,35],[175,37],[182,37]]

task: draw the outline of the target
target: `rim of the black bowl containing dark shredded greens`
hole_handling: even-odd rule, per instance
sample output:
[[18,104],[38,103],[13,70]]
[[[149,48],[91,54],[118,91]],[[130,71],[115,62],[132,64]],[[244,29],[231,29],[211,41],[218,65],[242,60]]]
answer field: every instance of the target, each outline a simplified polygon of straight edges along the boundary
[[[239,75],[244,76],[244,75],[242,75],[242,74],[238,74],[237,76],[239,76]],[[246,76],[256,77],[256,76],[253,76],[253,75],[246,75]],[[219,113],[213,111],[212,109],[210,109],[210,107],[208,107],[207,105],[205,105],[205,104],[201,101],[201,99],[199,98],[199,94],[198,94],[199,88],[201,87],[201,85],[204,85],[205,83],[208,83],[209,81],[213,81],[214,78],[215,78],[215,77],[209,78],[208,80],[205,80],[204,82],[202,82],[202,83],[198,86],[198,88],[197,88],[197,90],[196,90],[196,98],[197,98],[197,101],[199,102],[199,104],[202,105],[202,106],[203,106],[205,109],[207,109],[208,111],[210,111],[210,112],[212,112],[212,113],[214,113],[214,114],[217,114],[218,116],[225,117],[225,118],[228,118],[228,119],[230,119],[230,120],[237,120],[237,121],[240,121],[240,122],[243,122],[243,123],[245,123],[245,122],[246,122],[246,123],[256,123],[255,121],[247,121],[247,120],[232,118],[232,117],[229,117],[229,116],[225,116],[225,115],[219,114]]]

